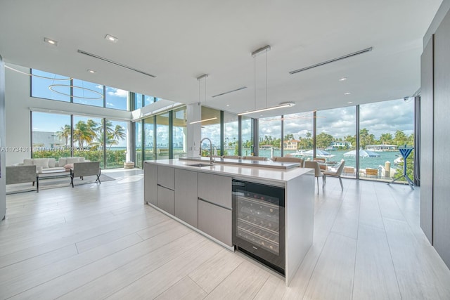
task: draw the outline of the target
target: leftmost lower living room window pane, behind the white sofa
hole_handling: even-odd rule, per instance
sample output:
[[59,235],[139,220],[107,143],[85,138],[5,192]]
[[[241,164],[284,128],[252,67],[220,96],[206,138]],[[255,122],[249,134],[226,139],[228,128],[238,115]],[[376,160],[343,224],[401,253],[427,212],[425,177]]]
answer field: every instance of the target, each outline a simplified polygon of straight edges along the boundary
[[70,115],[32,112],[32,158],[70,157],[70,145]]

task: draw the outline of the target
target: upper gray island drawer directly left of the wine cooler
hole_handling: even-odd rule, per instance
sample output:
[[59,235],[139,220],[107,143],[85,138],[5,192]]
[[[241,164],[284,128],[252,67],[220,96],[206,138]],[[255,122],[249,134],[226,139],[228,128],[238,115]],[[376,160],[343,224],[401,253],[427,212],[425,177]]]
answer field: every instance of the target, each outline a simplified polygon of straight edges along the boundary
[[198,197],[231,209],[231,177],[199,173]]

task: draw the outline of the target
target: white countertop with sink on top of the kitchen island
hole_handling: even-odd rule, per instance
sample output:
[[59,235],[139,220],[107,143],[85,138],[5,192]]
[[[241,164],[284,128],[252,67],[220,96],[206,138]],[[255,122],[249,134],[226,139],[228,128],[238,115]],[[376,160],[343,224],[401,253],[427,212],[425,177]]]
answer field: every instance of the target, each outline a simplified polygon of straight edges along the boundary
[[181,169],[190,169],[192,171],[214,173],[225,176],[233,176],[235,178],[255,178],[263,181],[275,181],[278,183],[286,183],[298,176],[309,173],[314,175],[314,169],[295,167],[292,169],[272,169],[265,167],[248,167],[238,166],[236,164],[213,164],[205,167],[193,167],[189,164],[199,164],[199,162],[193,162],[188,160],[179,159],[158,159],[158,160],[146,160],[145,163],[160,164],[167,167],[175,167]]

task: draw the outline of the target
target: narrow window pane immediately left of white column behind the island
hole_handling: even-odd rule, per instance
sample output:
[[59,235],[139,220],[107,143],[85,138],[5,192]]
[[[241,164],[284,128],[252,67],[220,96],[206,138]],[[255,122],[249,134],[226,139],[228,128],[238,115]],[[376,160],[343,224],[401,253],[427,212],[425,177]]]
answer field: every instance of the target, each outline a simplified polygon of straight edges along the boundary
[[186,107],[181,107],[172,112],[172,148],[173,157],[179,158],[186,155]]

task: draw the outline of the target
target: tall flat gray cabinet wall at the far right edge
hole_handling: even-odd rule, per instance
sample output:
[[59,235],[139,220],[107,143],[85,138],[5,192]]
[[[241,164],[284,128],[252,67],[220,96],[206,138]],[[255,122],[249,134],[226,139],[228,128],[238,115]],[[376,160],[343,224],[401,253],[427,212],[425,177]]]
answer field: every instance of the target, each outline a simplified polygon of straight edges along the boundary
[[[420,226],[450,267],[450,12],[421,58]],[[436,138],[435,138],[436,137]]]

